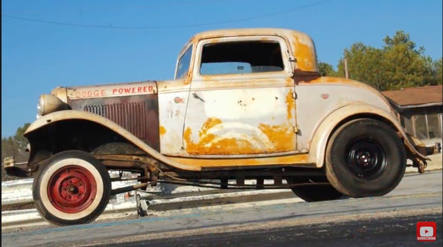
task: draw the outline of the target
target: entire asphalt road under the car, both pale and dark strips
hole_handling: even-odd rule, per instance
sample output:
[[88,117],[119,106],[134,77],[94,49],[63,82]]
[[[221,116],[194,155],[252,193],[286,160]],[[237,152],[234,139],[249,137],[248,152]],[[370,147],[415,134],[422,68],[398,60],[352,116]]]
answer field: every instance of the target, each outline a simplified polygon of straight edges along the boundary
[[[229,210],[194,209],[187,214],[137,220],[2,231],[2,247],[36,246],[421,246],[416,223],[437,223],[442,246],[441,171],[406,176],[378,198],[296,203]],[[284,245],[285,246],[285,245]]]

